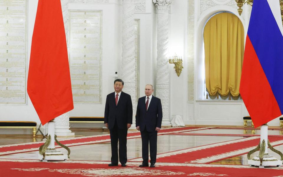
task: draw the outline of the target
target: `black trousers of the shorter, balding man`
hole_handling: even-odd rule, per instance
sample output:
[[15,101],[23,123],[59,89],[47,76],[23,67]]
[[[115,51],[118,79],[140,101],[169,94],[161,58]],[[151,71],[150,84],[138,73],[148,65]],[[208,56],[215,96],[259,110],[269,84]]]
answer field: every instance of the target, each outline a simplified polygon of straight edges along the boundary
[[148,132],[146,128],[141,132],[142,163],[148,163],[148,143],[150,152],[150,163],[156,162],[157,153],[157,131]]

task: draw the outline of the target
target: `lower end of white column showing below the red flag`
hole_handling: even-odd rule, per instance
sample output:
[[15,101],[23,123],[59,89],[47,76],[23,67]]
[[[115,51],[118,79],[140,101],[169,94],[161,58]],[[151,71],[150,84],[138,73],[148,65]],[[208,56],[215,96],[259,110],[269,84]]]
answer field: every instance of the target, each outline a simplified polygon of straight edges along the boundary
[[55,135],[57,136],[75,136],[75,133],[72,133],[69,125],[69,112],[64,113],[57,118],[55,118]]

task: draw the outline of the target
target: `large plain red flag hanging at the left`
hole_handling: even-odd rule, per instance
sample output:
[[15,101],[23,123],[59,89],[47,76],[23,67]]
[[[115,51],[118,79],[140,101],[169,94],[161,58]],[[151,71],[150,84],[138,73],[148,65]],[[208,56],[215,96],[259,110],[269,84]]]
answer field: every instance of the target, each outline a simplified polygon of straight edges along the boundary
[[74,108],[60,0],[39,0],[27,92],[42,125]]

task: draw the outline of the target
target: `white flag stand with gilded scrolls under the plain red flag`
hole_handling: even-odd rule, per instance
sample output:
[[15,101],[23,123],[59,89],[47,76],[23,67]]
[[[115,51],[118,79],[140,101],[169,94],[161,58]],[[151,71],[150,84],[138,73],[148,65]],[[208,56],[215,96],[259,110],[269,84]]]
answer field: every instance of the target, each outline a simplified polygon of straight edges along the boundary
[[[55,141],[62,148],[68,150],[68,155],[64,155],[60,150],[55,149]],[[62,145],[55,135],[55,122],[51,120],[48,122],[48,137],[46,142],[40,146],[38,158],[43,162],[47,161],[66,161],[70,158],[70,148]]]

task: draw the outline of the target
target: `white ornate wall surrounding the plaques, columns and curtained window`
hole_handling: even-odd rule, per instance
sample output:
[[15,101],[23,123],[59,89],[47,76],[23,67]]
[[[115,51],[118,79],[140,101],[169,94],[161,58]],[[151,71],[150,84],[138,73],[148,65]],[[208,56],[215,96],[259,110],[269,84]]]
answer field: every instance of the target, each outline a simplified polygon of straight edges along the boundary
[[[144,86],[156,86],[157,78],[157,14],[152,0],[134,0],[134,19],[140,20],[140,91]],[[102,102],[75,104],[70,116],[104,116],[106,95],[113,92],[114,72],[122,76],[122,0],[61,0],[66,33],[68,10],[102,10]],[[31,48],[37,1],[28,1],[28,59]],[[251,7],[244,6],[238,16],[245,32]],[[219,12],[231,11],[238,15],[234,0],[173,0],[168,20],[168,56],[175,52],[183,57],[184,69],[177,77],[174,66],[168,64],[169,103],[168,119],[182,115],[191,125],[242,125],[248,115],[242,101],[208,101],[204,99],[202,80],[203,27],[207,19]],[[68,35],[66,35],[68,40]],[[68,42],[67,42],[68,44]],[[158,70],[159,71],[159,70]],[[160,72],[163,72],[162,70]],[[154,93],[156,95],[157,92]],[[28,120],[40,124],[28,99],[27,105],[0,105],[0,120]],[[279,125],[274,120],[269,125]]]

